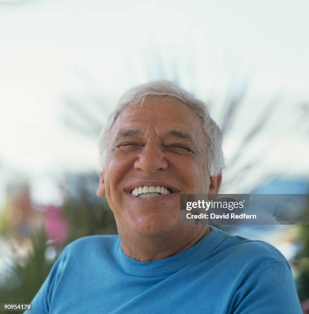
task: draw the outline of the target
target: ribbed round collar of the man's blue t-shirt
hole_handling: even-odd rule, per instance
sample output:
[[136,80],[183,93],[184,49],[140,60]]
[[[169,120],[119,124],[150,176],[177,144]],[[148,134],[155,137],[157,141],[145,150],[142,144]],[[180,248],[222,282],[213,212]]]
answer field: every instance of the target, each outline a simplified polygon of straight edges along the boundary
[[165,259],[139,262],[126,256],[120,241],[117,256],[125,272],[134,276],[156,277],[175,272],[214,250],[226,237],[226,232],[211,226],[211,232],[189,249]]

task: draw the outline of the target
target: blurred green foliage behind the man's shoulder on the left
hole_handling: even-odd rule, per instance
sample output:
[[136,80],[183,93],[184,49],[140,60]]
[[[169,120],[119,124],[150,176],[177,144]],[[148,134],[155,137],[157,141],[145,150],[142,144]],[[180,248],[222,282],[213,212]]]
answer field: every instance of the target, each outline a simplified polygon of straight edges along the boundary
[[[67,193],[62,206],[63,216],[69,224],[66,241],[49,243],[45,229],[37,230],[30,236],[33,253],[24,263],[16,260],[10,267],[10,276],[5,285],[0,286],[0,303],[30,303],[56,258],[70,242],[87,235],[117,233],[113,213],[105,199],[93,197],[81,184],[78,186],[78,195],[78,198],[73,198]],[[52,260],[47,258],[48,247],[56,251]]]

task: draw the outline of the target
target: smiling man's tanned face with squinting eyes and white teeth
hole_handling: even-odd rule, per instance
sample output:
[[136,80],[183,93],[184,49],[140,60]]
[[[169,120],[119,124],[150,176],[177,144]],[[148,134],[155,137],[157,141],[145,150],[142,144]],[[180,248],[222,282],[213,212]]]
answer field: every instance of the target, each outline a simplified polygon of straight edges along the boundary
[[183,230],[180,194],[216,192],[207,171],[205,131],[183,103],[152,97],[143,107],[128,107],[110,138],[97,193],[106,195],[120,232],[159,235]]

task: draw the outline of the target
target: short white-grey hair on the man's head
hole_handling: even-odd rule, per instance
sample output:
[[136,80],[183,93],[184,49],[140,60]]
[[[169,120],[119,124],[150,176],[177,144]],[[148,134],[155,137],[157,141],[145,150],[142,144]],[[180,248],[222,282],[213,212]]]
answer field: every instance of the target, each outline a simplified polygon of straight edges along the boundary
[[128,106],[143,106],[146,97],[150,96],[166,96],[179,100],[198,115],[208,139],[207,158],[209,175],[216,176],[220,174],[224,168],[224,157],[222,152],[222,133],[218,125],[211,119],[205,103],[196,99],[194,95],[180,86],[167,80],[150,81],[138,85],[129,89],[120,97],[116,108],[111,113],[107,124],[100,134],[99,159],[101,167],[105,166],[110,142],[110,130],[119,114]]

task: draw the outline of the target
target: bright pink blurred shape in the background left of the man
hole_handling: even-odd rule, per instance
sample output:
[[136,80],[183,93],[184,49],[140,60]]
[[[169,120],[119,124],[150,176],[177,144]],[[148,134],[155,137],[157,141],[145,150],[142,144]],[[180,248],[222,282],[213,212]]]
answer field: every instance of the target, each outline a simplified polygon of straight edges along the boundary
[[61,207],[47,205],[44,209],[47,239],[64,242],[68,237],[69,227],[63,217]]

